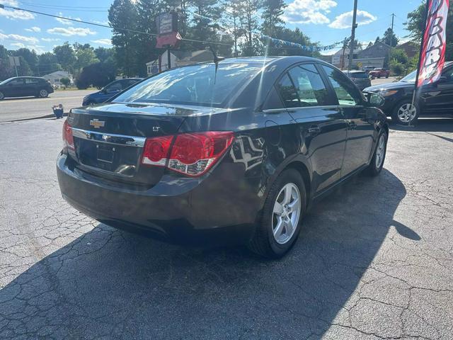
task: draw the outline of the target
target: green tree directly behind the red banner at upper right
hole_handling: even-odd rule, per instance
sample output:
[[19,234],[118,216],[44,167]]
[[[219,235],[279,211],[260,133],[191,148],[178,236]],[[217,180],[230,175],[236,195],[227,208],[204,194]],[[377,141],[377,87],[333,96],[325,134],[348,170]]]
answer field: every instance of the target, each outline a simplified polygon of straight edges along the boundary
[[[414,11],[408,13],[408,21],[404,23],[406,29],[411,32],[411,38],[413,42],[420,44],[421,37],[425,30],[425,18],[426,18],[426,6],[420,4]],[[453,60],[453,1],[450,1],[448,8],[447,18],[447,49],[445,51],[445,59]]]

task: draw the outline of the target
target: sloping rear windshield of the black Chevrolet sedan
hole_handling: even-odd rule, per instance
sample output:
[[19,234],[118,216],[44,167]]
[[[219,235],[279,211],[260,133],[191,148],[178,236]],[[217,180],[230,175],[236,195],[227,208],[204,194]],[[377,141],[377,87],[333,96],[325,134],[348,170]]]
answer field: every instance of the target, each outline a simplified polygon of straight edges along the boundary
[[261,68],[259,64],[219,64],[216,72],[214,64],[199,64],[171,69],[133,86],[113,102],[221,106]]

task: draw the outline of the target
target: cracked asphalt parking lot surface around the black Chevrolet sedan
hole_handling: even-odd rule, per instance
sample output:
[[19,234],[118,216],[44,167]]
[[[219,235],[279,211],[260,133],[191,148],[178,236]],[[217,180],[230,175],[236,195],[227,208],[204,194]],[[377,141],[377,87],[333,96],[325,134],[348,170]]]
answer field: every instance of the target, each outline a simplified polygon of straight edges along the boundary
[[62,200],[62,120],[0,124],[0,339],[452,339],[453,120],[305,217],[281,261],[120,232]]

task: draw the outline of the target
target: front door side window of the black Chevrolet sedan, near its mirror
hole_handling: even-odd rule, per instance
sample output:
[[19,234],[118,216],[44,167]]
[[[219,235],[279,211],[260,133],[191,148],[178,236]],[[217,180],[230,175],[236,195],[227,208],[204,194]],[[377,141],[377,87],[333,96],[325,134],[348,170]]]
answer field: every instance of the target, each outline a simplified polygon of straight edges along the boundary
[[331,81],[338,103],[343,106],[355,106],[362,102],[362,96],[355,85],[340,71],[323,65],[324,71]]

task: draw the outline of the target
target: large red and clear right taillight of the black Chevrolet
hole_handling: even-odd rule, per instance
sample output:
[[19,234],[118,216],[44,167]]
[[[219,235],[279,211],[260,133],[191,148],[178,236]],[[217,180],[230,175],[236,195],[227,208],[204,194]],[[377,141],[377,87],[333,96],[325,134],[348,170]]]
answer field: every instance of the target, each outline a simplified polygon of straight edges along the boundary
[[200,176],[222,157],[233,139],[233,132],[224,131],[147,138],[142,164],[166,166],[181,174]]

